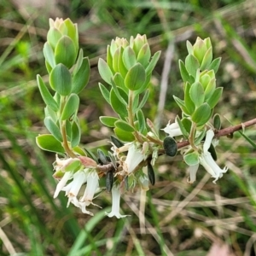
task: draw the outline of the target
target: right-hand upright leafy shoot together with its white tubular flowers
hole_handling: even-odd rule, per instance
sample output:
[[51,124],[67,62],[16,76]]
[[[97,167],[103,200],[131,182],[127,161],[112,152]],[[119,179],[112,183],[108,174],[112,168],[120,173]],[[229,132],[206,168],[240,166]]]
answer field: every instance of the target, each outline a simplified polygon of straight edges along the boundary
[[212,44],[210,38],[197,38],[194,45],[187,42],[185,62],[179,61],[180,73],[184,82],[183,100],[174,96],[177,105],[182,110],[182,118],[178,116],[175,122],[168,124],[164,131],[169,137],[183,136],[189,141],[189,146],[183,148],[183,160],[189,166],[189,182],[195,181],[196,172],[201,164],[214,177],[215,183],[227,172],[227,167],[221,169],[217,163],[214,139],[215,131],[220,129],[220,118],[213,114],[213,108],[222,96],[222,87],[216,87],[215,73],[218,71],[220,58],[212,60]]

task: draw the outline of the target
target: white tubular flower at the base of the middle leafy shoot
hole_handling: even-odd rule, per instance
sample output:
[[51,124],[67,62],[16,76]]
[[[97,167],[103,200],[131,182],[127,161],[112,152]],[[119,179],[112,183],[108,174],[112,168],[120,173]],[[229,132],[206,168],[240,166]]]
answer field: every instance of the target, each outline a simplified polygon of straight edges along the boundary
[[131,144],[124,163],[124,171],[129,175],[145,159],[145,154],[138,150],[134,143]]

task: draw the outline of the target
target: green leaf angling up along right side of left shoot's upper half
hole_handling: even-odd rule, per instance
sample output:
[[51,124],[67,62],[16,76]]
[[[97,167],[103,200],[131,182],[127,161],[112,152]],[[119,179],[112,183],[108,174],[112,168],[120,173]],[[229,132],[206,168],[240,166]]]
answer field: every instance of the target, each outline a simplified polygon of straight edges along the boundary
[[88,57],[83,59],[78,72],[74,74],[72,79],[72,92],[79,94],[88,84],[90,79],[90,62]]

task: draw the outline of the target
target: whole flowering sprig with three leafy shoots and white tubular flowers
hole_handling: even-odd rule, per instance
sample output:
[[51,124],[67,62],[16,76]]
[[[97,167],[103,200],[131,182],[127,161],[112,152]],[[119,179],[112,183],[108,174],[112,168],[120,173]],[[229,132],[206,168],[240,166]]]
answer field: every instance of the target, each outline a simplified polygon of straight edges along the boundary
[[[153,166],[161,154],[174,157],[180,151],[189,166],[189,183],[195,182],[199,165],[214,178],[213,183],[228,171],[227,167],[218,166],[215,147],[218,137],[241,127],[220,130],[220,116],[213,115],[223,88],[216,84],[220,58],[212,58],[210,38],[197,38],[194,45],[187,43],[189,54],[179,61],[183,99],[174,96],[182,114],[162,131],[143,113],[160,51],[151,55],[145,35],[131,37],[129,41],[112,40],[107,60],[100,59],[98,69],[106,83],[100,83],[99,89],[116,113],[115,117],[102,116],[100,120],[113,128],[115,137],[111,137],[108,155],[98,149],[96,156],[79,145],[79,92],[89,81],[90,64],[79,50],[78,27],[69,19],[50,19],[49,26],[44,57],[54,96],[38,75],[38,88],[46,104],[44,125],[49,134],[39,135],[37,143],[38,147],[56,154],[53,176],[58,183],[54,198],[65,191],[67,207],[72,203],[93,215],[87,207],[99,207],[93,199],[106,189],[111,191],[113,199],[112,211],[106,214],[123,218],[126,215],[119,211],[120,196],[136,186],[148,190],[148,183],[154,185]],[[99,185],[100,179],[105,179],[104,188]]]

